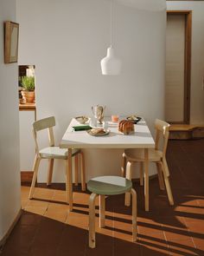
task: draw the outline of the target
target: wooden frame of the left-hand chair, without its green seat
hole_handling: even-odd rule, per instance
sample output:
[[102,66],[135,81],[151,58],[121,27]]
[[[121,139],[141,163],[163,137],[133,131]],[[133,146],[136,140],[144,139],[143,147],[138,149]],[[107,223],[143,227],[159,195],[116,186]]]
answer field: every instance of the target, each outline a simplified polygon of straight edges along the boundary
[[[35,191],[35,183],[37,180],[37,174],[38,174],[38,169],[40,165],[41,159],[48,159],[48,178],[47,178],[47,185],[49,186],[52,182],[52,176],[53,176],[53,167],[54,167],[54,159],[60,159],[57,157],[42,157],[38,142],[37,142],[37,135],[36,133],[38,131],[41,131],[43,129],[48,128],[48,139],[49,139],[49,147],[54,147],[54,131],[53,127],[55,126],[55,119],[54,116],[48,117],[41,119],[39,121],[35,121],[33,124],[33,135],[35,139],[35,161],[33,165],[33,179],[29,191],[29,199],[33,198],[34,191]],[[80,170],[81,170],[81,189],[82,191],[86,191],[86,176],[85,176],[85,161],[84,161],[84,154],[83,152],[77,150],[72,154],[72,157],[74,157],[74,162],[75,162],[75,185],[78,185],[78,172],[79,172],[79,157],[80,157]],[[67,195],[67,203],[68,203],[68,194],[69,194],[69,188],[68,188],[68,181],[70,179],[69,177],[69,172],[68,172],[68,167],[67,167],[67,158],[68,155],[62,158],[62,160],[66,161],[66,195]]]

